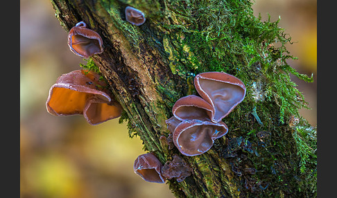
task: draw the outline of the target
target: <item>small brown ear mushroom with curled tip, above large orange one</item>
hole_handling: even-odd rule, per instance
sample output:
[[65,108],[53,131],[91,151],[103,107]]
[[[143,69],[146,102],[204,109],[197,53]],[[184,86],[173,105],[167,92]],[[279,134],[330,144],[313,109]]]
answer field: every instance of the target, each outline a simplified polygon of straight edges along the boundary
[[86,28],[87,24],[80,21],[69,30],[68,46],[70,50],[81,57],[90,57],[94,54],[103,53],[103,41],[94,30]]

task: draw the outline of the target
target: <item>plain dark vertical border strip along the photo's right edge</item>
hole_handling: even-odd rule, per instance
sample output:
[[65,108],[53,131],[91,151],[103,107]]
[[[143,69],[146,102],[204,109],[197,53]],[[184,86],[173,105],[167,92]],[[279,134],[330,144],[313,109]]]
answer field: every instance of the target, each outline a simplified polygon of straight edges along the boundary
[[[337,129],[336,85],[337,42],[336,8],[329,1],[318,1],[318,197],[336,194]],[[331,91],[329,91],[331,90]]]

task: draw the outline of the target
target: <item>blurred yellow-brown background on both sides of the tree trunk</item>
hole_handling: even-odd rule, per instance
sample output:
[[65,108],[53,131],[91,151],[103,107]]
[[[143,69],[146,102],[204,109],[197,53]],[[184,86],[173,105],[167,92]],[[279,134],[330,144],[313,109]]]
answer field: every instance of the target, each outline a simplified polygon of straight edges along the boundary
[[[129,138],[118,119],[89,125],[83,116],[51,116],[45,107],[49,89],[62,73],[85,63],[71,53],[67,32],[51,3],[20,1],[20,194],[22,198],[173,197],[168,186],[148,183],[133,172],[143,154],[139,138]],[[316,125],[316,1],[257,0],[254,15],[263,20],[281,17],[279,26],[293,38],[289,61],[314,82],[293,78],[310,110],[300,113]]]

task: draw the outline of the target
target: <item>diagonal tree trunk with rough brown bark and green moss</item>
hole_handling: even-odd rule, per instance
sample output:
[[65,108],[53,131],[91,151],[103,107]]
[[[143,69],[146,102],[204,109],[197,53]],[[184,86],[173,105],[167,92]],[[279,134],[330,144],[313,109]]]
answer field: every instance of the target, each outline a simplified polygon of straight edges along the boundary
[[[51,2],[65,30],[85,21],[103,38],[104,52],[92,60],[130,136],[163,164],[178,154],[192,168],[184,181],[167,180],[176,197],[316,197],[316,128],[298,114],[306,102],[289,75],[312,78],[286,64],[291,38],[278,21],[262,22],[241,0]],[[126,6],[146,22],[128,23]],[[193,76],[206,71],[236,76],[247,93],[223,119],[229,132],[205,154],[184,156],[160,136],[169,139],[173,104],[197,95]]]

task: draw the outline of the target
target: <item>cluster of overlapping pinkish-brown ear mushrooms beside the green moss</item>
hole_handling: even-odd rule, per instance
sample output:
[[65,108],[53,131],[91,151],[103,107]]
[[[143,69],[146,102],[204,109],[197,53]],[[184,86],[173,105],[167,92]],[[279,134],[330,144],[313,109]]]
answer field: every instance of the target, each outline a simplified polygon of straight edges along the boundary
[[199,73],[194,86],[201,97],[180,98],[173,105],[173,117],[166,120],[174,145],[186,156],[207,152],[216,138],[227,134],[222,119],[245,98],[243,82],[223,72]]

